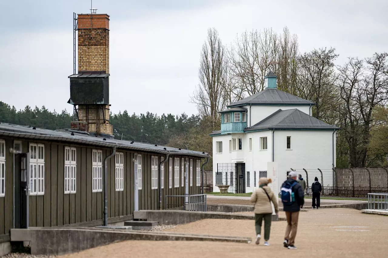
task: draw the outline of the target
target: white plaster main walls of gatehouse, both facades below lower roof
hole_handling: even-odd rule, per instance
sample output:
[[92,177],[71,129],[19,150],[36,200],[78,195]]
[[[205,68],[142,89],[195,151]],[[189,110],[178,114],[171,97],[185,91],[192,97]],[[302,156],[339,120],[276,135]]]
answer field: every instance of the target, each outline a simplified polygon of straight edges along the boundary
[[[287,136],[291,136],[292,150],[286,150]],[[242,150],[229,153],[229,140],[242,138]],[[267,137],[267,150],[260,150],[260,137]],[[249,138],[252,138],[252,151],[249,151]],[[282,182],[286,180],[287,171],[294,169],[306,179],[308,172],[308,184],[318,177],[321,182],[320,172],[323,173],[324,186],[332,185],[333,181],[333,131],[276,131],[274,132],[274,161],[278,163],[280,189]],[[222,141],[222,153],[216,153],[216,142]],[[335,149],[334,135],[334,153]],[[259,171],[267,170],[268,163],[272,161],[272,131],[248,132],[241,134],[226,134],[213,136],[213,191],[219,192],[215,186],[215,172],[217,163],[245,163],[245,171],[249,171],[249,187],[246,193],[253,191],[254,171],[256,171],[256,186],[259,180]],[[334,166],[335,166],[334,158]],[[248,178],[246,178],[248,181]],[[322,183],[322,182],[321,182]]]

